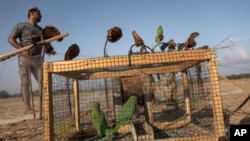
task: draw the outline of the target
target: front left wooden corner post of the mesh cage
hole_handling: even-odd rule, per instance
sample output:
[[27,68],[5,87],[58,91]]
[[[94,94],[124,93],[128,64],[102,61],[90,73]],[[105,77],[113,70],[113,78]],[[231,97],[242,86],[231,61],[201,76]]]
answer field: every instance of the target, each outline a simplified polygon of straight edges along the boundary
[[[43,67],[47,68],[47,63]],[[53,99],[52,99],[52,73],[48,69],[43,71],[43,110],[44,110],[44,140],[54,141],[54,117],[53,117]]]

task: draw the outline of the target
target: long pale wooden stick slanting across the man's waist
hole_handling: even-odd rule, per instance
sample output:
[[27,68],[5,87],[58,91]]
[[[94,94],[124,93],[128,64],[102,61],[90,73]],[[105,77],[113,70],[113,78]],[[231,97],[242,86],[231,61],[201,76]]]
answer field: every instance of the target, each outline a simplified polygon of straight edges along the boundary
[[[68,35],[69,35],[68,33],[63,33],[63,34],[57,35],[55,37],[52,37],[52,38],[49,38],[49,39],[46,39],[46,40],[43,40],[43,41],[39,41],[36,44],[50,43],[52,41],[61,39],[61,38],[65,37],[65,36],[68,36]],[[6,60],[6,59],[8,59],[10,57],[13,57],[13,56],[15,56],[15,55],[23,52],[23,51],[29,50],[32,47],[34,47],[34,44],[31,44],[31,45],[28,45],[28,46],[24,46],[24,47],[22,47],[20,49],[16,49],[14,51],[10,51],[10,52],[7,52],[5,54],[2,54],[2,55],[0,55],[0,61],[4,61],[4,60]]]

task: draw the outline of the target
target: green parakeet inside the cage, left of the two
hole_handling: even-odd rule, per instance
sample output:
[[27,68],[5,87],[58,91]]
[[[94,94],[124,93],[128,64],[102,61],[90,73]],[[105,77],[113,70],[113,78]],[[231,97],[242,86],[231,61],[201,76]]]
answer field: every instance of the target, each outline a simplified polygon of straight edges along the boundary
[[105,115],[100,109],[100,103],[98,102],[93,105],[91,121],[93,126],[96,128],[98,135],[104,136],[105,130],[108,129],[108,125]]

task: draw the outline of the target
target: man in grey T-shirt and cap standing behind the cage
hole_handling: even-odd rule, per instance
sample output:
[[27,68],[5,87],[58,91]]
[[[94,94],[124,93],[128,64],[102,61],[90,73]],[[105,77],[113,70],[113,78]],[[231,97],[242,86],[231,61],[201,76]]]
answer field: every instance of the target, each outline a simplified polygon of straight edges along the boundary
[[[42,18],[40,10],[36,7],[30,8],[28,10],[27,16],[28,21],[18,23],[8,38],[8,42],[16,49],[20,49],[40,40],[42,27],[37,24]],[[19,42],[17,39],[19,39]],[[21,78],[21,93],[24,102],[25,113],[32,113],[29,90],[29,87],[31,86],[30,73],[33,74],[35,80],[38,82],[39,91],[41,91],[43,62],[41,54],[42,47],[35,45],[32,49],[23,51],[18,56],[19,74]],[[54,55],[55,51],[52,49],[49,54]]]

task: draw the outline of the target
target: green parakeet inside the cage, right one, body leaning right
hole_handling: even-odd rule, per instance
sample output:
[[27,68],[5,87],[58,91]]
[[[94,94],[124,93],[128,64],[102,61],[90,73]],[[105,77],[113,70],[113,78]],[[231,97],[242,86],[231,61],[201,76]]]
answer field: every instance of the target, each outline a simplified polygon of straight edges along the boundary
[[119,128],[130,122],[136,111],[137,104],[137,96],[130,96],[129,99],[121,107],[114,128],[109,128],[105,131],[105,138],[103,138],[103,140],[109,140],[114,138],[114,135],[119,130]]

